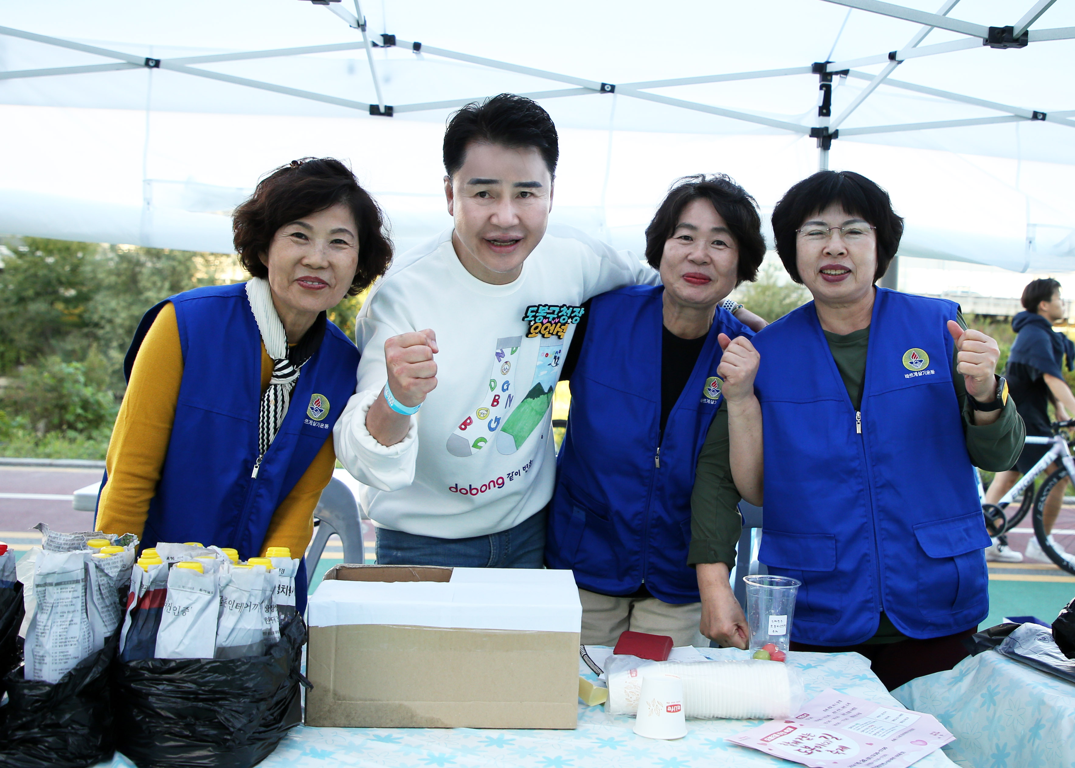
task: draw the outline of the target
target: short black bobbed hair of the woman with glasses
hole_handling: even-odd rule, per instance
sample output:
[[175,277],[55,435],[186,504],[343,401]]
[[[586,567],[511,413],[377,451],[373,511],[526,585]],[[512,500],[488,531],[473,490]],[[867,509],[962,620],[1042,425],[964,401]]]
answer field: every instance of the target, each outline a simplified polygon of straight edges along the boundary
[[880,279],[900,249],[903,218],[892,211],[888,192],[874,182],[854,171],[818,171],[785,192],[773,208],[773,236],[776,252],[791,279],[802,284],[797,264],[797,230],[811,216],[837,203],[851,216],[861,216],[874,228],[877,238],[877,269],[874,280]]

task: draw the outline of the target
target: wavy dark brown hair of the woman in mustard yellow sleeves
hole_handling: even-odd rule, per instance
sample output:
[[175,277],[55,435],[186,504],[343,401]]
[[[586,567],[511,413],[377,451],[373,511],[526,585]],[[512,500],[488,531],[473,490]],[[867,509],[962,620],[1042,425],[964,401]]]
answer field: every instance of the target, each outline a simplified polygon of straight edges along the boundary
[[358,269],[347,295],[355,295],[384,274],[392,260],[392,244],[384,215],[355,174],[333,158],[303,158],[281,165],[231,215],[239,263],[255,277],[268,277],[261,256],[276,231],[303,216],[343,203],[358,227]]

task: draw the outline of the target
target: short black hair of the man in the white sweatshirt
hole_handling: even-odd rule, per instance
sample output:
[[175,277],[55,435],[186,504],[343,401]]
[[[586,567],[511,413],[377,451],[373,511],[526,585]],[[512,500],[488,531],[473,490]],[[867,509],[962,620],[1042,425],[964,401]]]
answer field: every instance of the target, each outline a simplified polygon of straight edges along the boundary
[[550,176],[556,176],[560,141],[553,118],[536,101],[525,96],[501,93],[483,102],[471,102],[448,118],[444,131],[444,170],[455,176],[463,165],[471,142],[500,144],[541,153]]

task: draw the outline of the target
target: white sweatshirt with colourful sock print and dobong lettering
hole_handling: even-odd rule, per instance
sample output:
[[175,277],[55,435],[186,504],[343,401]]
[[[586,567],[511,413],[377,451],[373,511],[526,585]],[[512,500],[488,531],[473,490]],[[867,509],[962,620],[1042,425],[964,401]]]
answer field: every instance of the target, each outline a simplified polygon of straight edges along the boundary
[[[548,228],[505,286],[467,272],[452,230],[398,257],[359,313],[358,388],[333,430],[336,458],[373,489],[370,518],[406,533],[465,538],[540,511],[556,480],[553,390],[580,305],[659,281],[633,253],[560,226]],[[440,349],[436,389],[403,441],[382,446],[366,414],[387,380],[385,342],[427,328]]]

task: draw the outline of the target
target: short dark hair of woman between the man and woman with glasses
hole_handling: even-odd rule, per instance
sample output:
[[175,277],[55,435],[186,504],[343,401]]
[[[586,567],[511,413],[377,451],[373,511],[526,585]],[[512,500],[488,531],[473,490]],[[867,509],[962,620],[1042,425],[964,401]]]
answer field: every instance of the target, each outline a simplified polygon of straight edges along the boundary
[[732,240],[739,248],[735,285],[757,279],[758,267],[765,258],[758,202],[722,173],[699,173],[672,183],[653,221],[646,227],[646,261],[649,265],[655,270],[661,269],[664,243],[675,232],[684,208],[696,200],[708,200],[731,230]]

